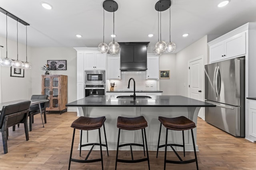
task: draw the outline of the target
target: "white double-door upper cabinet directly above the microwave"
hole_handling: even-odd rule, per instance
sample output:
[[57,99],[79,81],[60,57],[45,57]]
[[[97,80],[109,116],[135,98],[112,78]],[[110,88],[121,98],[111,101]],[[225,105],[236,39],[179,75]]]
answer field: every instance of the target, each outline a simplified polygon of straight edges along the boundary
[[84,52],[84,70],[105,70],[106,53]]

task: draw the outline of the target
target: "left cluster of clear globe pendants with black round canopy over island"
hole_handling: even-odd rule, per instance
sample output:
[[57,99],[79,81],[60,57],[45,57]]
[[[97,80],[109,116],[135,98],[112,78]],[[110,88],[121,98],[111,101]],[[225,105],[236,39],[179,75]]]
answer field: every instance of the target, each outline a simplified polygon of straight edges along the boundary
[[[98,50],[101,53],[109,53],[111,55],[116,55],[119,52],[120,46],[117,42],[115,42],[115,29],[114,29],[114,21],[115,21],[115,11],[118,9],[118,4],[114,0],[105,0],[103,2],[103,43],[98,45]],[[104,11],[113,12],[113,41],[108,45],[104,43],[104,26],[105,26],[105,15]]]

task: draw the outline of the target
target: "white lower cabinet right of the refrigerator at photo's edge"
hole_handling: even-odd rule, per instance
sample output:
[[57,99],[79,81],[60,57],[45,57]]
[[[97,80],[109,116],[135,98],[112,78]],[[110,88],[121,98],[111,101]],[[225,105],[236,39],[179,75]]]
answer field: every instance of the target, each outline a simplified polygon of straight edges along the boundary
[[249,101],[249,135],[256,137],[256,100]]

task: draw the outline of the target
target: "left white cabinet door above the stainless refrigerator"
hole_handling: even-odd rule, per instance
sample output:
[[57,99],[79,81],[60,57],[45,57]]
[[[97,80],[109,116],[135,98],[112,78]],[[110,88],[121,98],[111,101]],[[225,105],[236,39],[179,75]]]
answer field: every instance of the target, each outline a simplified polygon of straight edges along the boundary
[[210,63],[222,60],[225,55],[224,41],[210,47]]

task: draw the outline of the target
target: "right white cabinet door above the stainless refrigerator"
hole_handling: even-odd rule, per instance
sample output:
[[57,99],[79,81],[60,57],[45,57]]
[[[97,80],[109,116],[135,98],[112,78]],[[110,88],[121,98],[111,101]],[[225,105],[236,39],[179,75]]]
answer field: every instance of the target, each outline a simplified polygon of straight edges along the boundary
[[239,33],[225,41],[226,57],[236,57],[246,53],[245,33]]

